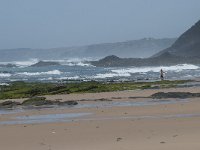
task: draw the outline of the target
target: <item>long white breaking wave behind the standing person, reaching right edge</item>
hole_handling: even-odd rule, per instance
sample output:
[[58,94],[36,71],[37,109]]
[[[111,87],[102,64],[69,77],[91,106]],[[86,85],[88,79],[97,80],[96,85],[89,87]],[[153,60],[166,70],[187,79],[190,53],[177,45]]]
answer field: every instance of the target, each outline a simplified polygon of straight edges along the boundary
[[114,69],[113,73],[147,73],[147,72],[160,72],[160,69],[166,71],[180,72],[183,70],[196,70],[199,69],[198,66],[191,64],[180,64],[175,66],[159,66],[159,67],[132,67],[127,69]]

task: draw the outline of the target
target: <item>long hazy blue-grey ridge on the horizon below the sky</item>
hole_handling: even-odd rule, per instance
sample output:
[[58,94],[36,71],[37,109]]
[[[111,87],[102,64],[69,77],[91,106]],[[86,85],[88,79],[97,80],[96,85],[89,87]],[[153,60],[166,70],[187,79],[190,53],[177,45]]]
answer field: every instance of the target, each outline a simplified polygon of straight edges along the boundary
[[162,49],[171,46],[176,38],[144,38],[116,43],[93,44],[78,47],[63,47],[52,49],[5,49],[0,50],[0,61],[27,60],[38,58],[39,60],[95,57],[103,58],[108,55],[118,57],[149,57]]

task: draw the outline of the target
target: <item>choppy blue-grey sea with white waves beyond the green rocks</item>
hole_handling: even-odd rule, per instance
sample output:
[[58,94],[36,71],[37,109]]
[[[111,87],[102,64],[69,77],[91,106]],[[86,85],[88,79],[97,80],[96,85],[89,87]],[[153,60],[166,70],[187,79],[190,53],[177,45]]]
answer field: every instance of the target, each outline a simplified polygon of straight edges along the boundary
[[85,63],[85,59],[48,60],[61,65],[48,67],[31,67],[37,59],[27,61],[0,62],[0,64],[14,64],[16,67],[0,67],[0,85],[10,81],[155,81],[159,80],[160,69],[165,71],[165,78],[169,80],[193,79],[200,77],[200,64],[178,64],[174,66],[155,67],[94,67]]

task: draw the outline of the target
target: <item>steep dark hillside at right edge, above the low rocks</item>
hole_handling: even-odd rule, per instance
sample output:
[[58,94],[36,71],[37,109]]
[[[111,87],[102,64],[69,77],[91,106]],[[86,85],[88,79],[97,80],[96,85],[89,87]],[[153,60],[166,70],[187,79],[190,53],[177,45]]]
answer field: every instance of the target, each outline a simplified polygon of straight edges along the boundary
[[200,21],[183,33],[172,46],[155,54],[153,57],[165,52],[182,57],[200,57]]

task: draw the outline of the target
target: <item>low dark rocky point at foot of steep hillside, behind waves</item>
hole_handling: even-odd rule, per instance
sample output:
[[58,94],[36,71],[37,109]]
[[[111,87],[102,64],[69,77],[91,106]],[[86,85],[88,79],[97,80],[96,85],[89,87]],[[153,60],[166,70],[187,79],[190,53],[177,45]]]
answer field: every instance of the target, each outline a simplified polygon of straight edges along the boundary
[[128,66],[168,66],[176,64],[200,64],[200,57],[179,57],[165,52],[152,58],[119,58],[117,56],[108,56],[99,61],[91,61],[96,67],[128,67]]

